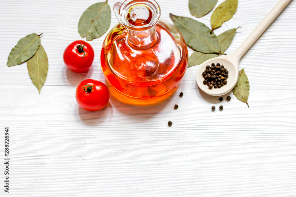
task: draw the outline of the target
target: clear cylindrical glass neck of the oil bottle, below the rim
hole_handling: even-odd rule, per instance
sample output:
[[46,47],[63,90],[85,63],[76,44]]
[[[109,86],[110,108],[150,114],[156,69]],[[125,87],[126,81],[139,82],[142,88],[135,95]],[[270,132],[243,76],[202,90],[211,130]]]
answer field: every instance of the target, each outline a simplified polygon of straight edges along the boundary
[[136,31],[127,29],[128,32],[128,44],[132,48],[138,50],[147,50],[152,48],[157,41],[157,33],[155,31],[155,26],[148,30]]

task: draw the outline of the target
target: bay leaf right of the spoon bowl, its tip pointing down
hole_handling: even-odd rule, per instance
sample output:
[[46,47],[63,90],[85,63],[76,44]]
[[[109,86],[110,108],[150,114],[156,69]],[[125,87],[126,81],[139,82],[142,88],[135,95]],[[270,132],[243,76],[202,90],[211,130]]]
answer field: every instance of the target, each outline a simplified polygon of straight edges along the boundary
[[248,97],[250,92],[250,84],[247,75],[244,73],[244,69],[239,71],[239,79],[232,92],[239,101],[246,103],[249,107]]

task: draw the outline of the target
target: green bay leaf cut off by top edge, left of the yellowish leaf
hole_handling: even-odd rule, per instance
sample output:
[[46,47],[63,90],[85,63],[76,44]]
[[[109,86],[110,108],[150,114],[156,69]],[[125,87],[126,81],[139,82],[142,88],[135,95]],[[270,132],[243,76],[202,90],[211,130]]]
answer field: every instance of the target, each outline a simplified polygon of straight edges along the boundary
[[218,0],[189,0],[189,11],[192,16],[197,18],[210,12]]

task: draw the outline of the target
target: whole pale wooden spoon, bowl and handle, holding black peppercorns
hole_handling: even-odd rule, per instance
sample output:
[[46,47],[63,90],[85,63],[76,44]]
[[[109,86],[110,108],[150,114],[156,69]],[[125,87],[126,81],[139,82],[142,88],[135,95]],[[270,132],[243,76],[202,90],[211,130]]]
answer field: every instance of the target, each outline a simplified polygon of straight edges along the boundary
[[[221,96],[230,92],[238,81],[240,59],[256,42],[256,40],[258,40],[258,38],[269,27],[269,25],[271,25],[271,23],[276,19],[276,17],[285,9],[285,7],[290,3],[290,1],[292,0],[280,0],[233,54],[212,58],[202,63],[196,74],[196,81],[198,87],[203,92],[212,96]],[[214,63],[215,65],[219,63],[220,65],[223,65],[224,68],[228,71],[227,84],[223,85],[220,88],[209,89],[209,87],[203,83],[205,79],[202,73],[205,71],[206,66],[211,66],[212,63]]]

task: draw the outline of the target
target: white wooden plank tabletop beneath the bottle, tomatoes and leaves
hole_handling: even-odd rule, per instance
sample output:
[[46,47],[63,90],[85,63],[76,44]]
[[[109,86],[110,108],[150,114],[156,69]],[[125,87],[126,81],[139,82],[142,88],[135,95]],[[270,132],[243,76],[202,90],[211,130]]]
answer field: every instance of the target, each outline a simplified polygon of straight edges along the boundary
[[[66,69],[62,54],[81,39],[78,20],[96,2],[1,1],[1,197],[296,196],[296,1],[242,58],[250,108],[232,93],[231,101],[226,95],[221,104],[205,95],[194,66],[165,103],[135,107],[110,97],[104,110],[88,112],[78,107],[74,92],[84,79],[105,82],[100,49],[106,34],[89,42],[95,60],[87,73]],[[171,22],[170,12],[192,17],[187,1],[158,2],[163,19]],[[219,35],[242,26],[226,53],[233,53],[276,3],[239,0],[234,17],[215,30]],[[197,20],[210,26],[212,12]],[[116,24],[112,13],[110,28]],[[40,95],[26,64],[6,66],[11,48],[32,32],[43,33],[49,58]],[[220,105],[223,111],[217,110]],[[3,187],[4,127],[10,132],[9,193]]]

